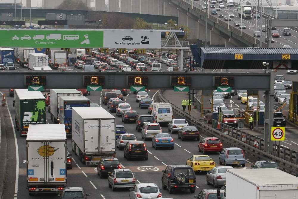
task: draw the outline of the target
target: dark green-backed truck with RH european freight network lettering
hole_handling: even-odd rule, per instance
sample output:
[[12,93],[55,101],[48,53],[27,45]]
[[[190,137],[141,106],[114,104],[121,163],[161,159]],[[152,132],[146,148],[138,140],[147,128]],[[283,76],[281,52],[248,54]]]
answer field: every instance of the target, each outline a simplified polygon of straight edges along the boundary
[[40,91],[15,89],[15,127],[27,135],[29,124],[46,124],[46,98]]

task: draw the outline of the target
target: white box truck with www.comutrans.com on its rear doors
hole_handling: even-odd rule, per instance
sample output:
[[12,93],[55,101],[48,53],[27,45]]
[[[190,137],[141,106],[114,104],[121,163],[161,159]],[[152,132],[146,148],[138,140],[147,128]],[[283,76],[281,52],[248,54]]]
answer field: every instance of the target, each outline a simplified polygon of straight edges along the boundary
[[72,151],[86,165],[115,157],[115,117],[103,107],[72,108]]

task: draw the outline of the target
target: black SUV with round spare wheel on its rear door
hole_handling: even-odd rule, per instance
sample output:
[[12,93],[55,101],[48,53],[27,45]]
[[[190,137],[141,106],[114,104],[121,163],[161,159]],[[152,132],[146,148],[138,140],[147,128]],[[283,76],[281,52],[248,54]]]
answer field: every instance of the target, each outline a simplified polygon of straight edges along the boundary
[[194,193],[195,186],[195,172],[190,166],[168,165],[165,170],[162,170],[162,189],[168,189],[169,193],[177,189],[190,189],[190,193]]

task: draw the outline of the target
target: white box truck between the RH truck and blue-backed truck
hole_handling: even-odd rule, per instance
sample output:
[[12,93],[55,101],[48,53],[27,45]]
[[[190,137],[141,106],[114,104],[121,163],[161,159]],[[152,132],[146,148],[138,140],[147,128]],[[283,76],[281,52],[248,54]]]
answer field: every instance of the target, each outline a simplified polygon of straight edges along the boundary
[[53,123],[58,124],[60,122],[60,99],[59,96],[78,96],[81,95],[81,91],[75,89],[51,89],[50,96],[51,102],[48,106],[48,110],[51,115]]

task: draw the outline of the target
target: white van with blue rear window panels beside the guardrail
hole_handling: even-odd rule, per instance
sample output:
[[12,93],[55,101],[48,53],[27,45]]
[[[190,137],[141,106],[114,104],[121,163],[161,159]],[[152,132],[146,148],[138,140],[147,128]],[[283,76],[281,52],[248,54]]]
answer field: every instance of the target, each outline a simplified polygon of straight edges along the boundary
[[170,122],[173,119],[172,105],[170,103],[155,102],[152,106],[152,115],[156,122]]

